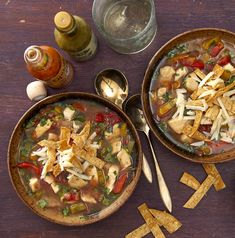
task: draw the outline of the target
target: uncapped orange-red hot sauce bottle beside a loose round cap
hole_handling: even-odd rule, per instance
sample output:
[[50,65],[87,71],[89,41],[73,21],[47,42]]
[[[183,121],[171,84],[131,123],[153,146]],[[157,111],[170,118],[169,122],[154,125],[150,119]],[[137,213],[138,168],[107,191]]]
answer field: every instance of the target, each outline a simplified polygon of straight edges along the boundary
[[58,51],[49,46],[30,46],[24,60],[29,73],[51,88],[67,86],[73,79],[73,67]]

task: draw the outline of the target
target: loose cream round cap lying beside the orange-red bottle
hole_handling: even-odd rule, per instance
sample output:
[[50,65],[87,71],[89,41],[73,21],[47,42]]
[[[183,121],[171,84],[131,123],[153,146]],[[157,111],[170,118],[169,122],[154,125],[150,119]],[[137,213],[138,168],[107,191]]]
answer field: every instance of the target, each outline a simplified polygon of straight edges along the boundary
[[32,101],[40,101],[47,96],[45,85],[41,81],[34,81],[28,84],[26,88],[28,98]]

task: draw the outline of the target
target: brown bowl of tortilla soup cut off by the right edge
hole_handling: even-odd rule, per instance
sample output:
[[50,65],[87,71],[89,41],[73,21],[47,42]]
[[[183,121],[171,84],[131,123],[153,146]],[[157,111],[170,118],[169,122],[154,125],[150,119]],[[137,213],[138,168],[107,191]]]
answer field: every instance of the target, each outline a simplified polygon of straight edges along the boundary
[[180,34],[151,59],[142,85],[147,123],[171,151],[199,163],[235,158],[235,34]]

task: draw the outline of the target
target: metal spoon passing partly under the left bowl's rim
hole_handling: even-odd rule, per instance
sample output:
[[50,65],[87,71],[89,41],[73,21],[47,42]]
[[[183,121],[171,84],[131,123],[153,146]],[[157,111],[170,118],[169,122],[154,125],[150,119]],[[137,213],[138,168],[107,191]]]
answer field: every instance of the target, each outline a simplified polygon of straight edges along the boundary
[[[105,69],[99,72],[94,82],[96,93],[122,109],[122,105],[128,96],[128,81],[126,76],[117,69]],[[147,180],[152,183],[152,172],[146,157],[143,155],[143,166]]]

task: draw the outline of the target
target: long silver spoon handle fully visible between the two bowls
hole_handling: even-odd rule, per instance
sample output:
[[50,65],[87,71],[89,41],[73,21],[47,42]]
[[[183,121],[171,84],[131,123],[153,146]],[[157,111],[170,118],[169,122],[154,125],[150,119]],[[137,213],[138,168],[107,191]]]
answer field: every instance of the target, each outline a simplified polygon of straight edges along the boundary
[[153,145],[152,145],[152,142],[151,142],[151,139],[150,139],[150,130],[147,133],[147,138],[148,138],[148,141],[149,141],[149,144],[150,144],[150,148],[151,148],[154,163],[155,163],[160,195],[161,195],[161,198],[162,198],[162,201],[163,201],[164,205],[171,212],[172,211],[172,202],[171,202],[170,192],[167,188],[166,182],[165,182],[164,177],[162,175],[161,169],[160,169],[158,161],[157,161],[157,157],[156,157],[154,149],[153,149]]

